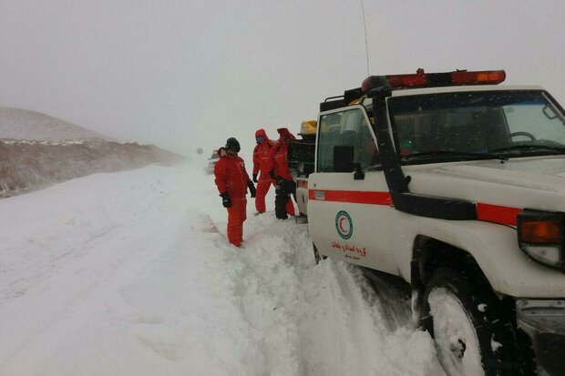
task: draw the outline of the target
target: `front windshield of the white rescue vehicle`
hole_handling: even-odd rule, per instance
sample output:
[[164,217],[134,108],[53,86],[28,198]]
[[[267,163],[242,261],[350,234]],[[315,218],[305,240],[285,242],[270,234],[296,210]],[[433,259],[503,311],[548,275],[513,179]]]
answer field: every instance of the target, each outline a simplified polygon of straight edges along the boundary
[[544,92],[457,92],[388,100],[403,164],[565,154],[565,120]]

